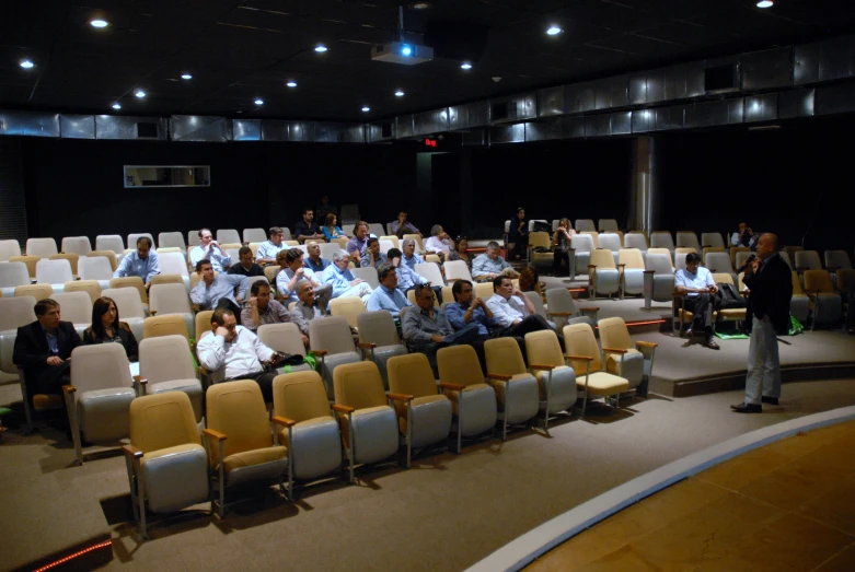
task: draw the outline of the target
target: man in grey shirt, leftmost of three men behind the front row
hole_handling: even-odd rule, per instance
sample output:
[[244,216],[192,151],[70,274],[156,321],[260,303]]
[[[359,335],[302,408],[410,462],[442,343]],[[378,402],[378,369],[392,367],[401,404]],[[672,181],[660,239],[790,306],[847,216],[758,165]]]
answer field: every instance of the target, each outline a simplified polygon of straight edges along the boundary
[[404,313],[401,329],[404,342],[411,351],[427,355],[436,373],[437,351],[447,346],[483,343],[478,337],[478,325],[467,324],[454,331],[442,310],[434,305],[434,291],[426,285],[416,287],[416,305]]

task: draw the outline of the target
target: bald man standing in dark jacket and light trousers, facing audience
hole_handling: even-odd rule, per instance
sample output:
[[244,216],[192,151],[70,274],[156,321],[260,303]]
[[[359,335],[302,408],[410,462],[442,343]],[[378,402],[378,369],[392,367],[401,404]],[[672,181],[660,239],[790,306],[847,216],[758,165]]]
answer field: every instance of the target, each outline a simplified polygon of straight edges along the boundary
[[746,400],[730,406],[737,413],[760,413],[761,404],[777,405],[781,397],[781,361],[777,336],[789,331],[789,300],[793,275],[778,256],[778,240],[764,234],[756,244],[756,257],[743,279],[750,291],[747,319],[751,325],[748,349]]

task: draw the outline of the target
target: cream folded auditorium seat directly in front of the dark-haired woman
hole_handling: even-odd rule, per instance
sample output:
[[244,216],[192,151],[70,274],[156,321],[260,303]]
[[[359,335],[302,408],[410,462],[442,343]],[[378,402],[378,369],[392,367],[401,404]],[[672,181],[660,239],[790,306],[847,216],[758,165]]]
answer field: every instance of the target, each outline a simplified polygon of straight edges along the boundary
[[79,346],[71,352],[71,384],[62,387],[74,442],[83,464],[83,441],[106,445],[129,435],[129,408],[137,396],[120,343]]

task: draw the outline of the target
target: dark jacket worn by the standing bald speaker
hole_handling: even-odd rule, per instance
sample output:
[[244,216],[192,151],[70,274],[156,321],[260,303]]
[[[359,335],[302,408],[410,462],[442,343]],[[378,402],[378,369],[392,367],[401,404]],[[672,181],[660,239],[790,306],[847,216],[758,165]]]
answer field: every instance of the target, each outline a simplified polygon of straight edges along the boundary
[[748,297],[748,323],[751,317],[769,316],[775,331],[789,331],[789,301],[793,297],[793,270],[777,254],[767,258],[760,273],[746,275],[744,284],[751,290]]

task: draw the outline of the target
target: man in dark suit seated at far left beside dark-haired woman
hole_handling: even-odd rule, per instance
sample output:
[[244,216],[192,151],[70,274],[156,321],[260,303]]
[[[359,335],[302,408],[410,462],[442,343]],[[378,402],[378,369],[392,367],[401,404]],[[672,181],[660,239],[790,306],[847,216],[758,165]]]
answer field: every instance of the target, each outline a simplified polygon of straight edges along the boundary
[[35,306],[36,322],[18,328],[12,361],[24,369],[27,394],[60,394],[70,383],[71,351],[83,341],[70,322],[60,322],[50,299]]

